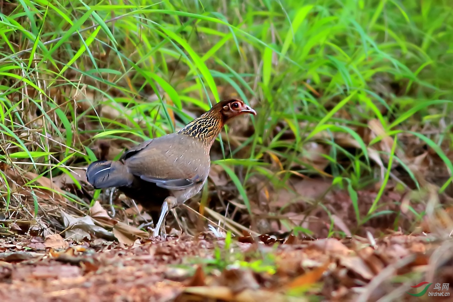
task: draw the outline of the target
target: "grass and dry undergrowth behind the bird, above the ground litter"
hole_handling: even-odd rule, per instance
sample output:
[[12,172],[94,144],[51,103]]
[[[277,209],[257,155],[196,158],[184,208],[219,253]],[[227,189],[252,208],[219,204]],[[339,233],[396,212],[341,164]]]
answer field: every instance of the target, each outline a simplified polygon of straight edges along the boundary
[[[258,115],[226,126],[210,182],[188,202],[214,225],[237,235],[413,231],[450,202],[449,1],[2,0],[0,9],[4,235],[63,230],[58,207],[80,216],[96,200],[120,221],[147,221],[124,197],[89,188],[82,168],[229,96]],[[198,216],[177,212],[191,232]]]

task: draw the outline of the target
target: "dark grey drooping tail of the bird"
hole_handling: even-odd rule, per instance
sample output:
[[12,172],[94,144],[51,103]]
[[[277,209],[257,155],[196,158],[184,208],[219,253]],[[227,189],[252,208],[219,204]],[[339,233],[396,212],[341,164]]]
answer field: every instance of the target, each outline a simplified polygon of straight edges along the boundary
[[98,160],[87,168],[87,181],[96,189],[129,186],[133,176],[127,172],[123,163]]

